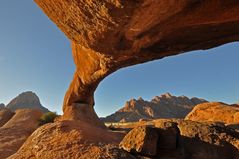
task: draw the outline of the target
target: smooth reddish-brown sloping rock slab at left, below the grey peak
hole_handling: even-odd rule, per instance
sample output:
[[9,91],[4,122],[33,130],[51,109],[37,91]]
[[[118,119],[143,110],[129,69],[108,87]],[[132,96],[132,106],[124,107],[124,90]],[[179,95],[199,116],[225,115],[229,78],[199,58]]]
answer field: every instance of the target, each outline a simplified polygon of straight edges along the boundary
[[42,113],[34,109],[19,109],[0,128],[0,158],[4,159],[17,152],[31,133],[39,126]]

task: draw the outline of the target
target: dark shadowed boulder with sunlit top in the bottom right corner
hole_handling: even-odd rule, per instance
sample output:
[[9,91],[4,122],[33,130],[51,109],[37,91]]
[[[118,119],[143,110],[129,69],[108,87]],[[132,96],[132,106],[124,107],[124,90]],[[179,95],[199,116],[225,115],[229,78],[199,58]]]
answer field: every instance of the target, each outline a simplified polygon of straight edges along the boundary
[[191,121],[179,121],[178,128],[182,141],[179,147],[185,150],[183,153],[185,158],[236,159],[239,157],[239,133],[232,129]]

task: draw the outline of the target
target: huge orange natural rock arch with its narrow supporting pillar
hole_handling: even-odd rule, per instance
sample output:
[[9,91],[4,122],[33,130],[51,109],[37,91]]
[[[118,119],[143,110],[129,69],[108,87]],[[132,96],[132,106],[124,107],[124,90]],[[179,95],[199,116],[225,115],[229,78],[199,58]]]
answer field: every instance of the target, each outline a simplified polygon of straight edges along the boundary
[[63,119],[103,126],[94,92],[120,68],[239,40],[238,0],[35,0],[72,42]]

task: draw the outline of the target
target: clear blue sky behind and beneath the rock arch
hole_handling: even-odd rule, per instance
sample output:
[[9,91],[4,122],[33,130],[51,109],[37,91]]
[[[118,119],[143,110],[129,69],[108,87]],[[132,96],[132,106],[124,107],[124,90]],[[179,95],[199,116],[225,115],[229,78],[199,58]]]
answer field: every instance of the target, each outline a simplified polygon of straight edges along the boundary
[[[70,42],[33,0],[0,1],[0,103],[34,91],[61,113],[75,69]],[[239,102],[239,43],[195,51],[119,70],[98,87],[99,116],[126,100],[170,92],[227,103]]]

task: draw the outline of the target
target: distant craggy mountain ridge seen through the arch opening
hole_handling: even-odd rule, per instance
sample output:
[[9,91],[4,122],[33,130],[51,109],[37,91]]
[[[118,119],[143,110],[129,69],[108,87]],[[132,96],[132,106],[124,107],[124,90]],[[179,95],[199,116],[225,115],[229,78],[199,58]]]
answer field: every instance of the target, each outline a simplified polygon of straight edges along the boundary
[[204,99],[176,97],[169,93],[155,96],[151,101],[140,97],[127,101],[122,109],[101,119],[104,122],[130,122],[140,119],[185,118],[195,105],[205,102]]

